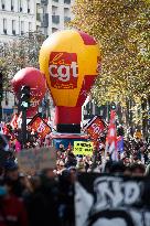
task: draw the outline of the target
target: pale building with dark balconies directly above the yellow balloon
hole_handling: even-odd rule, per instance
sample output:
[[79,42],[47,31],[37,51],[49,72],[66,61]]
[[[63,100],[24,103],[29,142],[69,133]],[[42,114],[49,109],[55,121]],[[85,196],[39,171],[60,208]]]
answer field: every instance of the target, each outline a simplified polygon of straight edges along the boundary
[[72,6],[74,0],[41,0],[36,4],[38,31],[50,35],[55,31],[64,30],[66,22],[73,18]]

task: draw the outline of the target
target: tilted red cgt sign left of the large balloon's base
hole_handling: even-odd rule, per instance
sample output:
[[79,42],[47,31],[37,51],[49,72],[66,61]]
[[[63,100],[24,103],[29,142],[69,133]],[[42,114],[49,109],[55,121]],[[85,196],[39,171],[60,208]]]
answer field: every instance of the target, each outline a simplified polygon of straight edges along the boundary
[[38,115],[30,122],[29,126],[34,129],[41,138],[45,138],[52,130],[51,127]]

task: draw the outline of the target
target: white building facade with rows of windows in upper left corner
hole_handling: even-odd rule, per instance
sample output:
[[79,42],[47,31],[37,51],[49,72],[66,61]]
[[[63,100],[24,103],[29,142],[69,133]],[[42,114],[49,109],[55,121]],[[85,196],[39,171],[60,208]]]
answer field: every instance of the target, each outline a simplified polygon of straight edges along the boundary
[[36,1],[0,0],[0,41],[36,30]]

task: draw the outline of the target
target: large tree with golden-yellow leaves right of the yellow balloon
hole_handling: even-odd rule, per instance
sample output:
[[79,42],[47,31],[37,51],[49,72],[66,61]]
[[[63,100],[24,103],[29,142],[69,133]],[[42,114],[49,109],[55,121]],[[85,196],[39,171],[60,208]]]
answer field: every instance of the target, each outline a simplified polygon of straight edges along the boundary
[[71,26],[96,37],[101,74],[93,89],[97,103],[140,99],[150,92],[149,0],[76,0]]

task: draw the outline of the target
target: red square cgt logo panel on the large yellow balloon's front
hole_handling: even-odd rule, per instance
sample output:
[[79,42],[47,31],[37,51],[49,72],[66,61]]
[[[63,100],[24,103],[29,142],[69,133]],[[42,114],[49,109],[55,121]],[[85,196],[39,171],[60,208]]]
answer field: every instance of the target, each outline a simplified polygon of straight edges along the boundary
[[52,87],[58,89],[76,88],[78,77],[76,53],[52,52],[49,73]]

